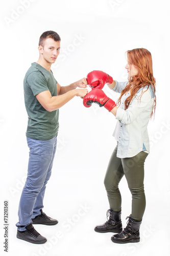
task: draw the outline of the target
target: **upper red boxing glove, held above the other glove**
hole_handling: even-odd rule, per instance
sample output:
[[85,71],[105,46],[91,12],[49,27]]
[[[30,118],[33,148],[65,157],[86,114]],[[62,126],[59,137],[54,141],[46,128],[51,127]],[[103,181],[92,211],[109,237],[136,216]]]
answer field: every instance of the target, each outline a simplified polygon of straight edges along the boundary
[[113,78],[100,70],[93,70],[87,74],[87,83],[92,89],[98,88],[103,89],[105,83],[111,84]]

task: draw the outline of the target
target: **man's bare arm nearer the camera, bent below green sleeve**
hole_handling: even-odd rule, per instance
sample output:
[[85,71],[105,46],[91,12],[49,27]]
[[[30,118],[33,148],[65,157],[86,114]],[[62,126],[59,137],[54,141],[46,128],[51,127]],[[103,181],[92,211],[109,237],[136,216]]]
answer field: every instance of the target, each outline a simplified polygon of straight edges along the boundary
[[75,96],[84,98],[87,93],[87,89],[75,89],[68,91],[62,95],[52,96],[50,91],[43,91],[37,94],[35,97],[46,111],[52,112],[54,110],[61,108],[61,106],[66,104]]

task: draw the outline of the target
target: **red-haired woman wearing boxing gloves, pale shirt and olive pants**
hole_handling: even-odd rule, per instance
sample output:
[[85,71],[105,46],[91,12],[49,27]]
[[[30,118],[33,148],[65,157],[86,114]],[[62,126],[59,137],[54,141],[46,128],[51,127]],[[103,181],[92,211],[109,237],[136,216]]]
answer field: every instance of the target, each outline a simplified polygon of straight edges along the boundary
[[[117,232],[112,236],[114,243],[139,242],[139,228],[145,209],[144,161],[149,154],[147,125],[156,106],[155,78],[152,56],[146,49],[127,51],[126,69],[128,82],[117,82],[102,71],[92,71],[87,82],[92,90],[83,103],[89,107],[92,102],[105,106],[118,120],[113,136],[117,140],[105,176],[105,187],[110,209],[109,220],[96,226],[96,232]],[[104,84],[120,93],[118,105],[102,91]],[[122,228],[121,195],[118,184],[125,175],[132,194],[132,212],[127,227]]]

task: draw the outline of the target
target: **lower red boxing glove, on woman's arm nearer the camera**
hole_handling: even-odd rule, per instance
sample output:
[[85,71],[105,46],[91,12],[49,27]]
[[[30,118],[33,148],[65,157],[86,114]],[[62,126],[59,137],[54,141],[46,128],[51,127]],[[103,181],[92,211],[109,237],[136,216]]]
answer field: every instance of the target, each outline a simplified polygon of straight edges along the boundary
[[93,102],[104,106],[109,112],[116,106],[116,103],[100,89],[91,90],[83,99],[86,108],[89,108]]

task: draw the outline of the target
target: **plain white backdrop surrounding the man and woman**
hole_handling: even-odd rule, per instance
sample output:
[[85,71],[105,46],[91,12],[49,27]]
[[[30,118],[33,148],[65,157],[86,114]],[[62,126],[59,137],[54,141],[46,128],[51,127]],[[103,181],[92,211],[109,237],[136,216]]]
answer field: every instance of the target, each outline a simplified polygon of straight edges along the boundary
[[[2,5],[2,4],[1,4]],[[169,254],[169,11],[168,0],[10,0],[1,6],[1,208],[0,254],[4,252],[4,200],[9,201],[8,255],[133,256]],[[56,226],[36,229],[48,241],[34,245],[16,239],[15,223],[27,176],[27,113],[22,82],[38,59],[41,33],[61,37],[61,53],[52,67],[62,86],[103,70],[118,81],[127,80],[125,52],[147,48],[153,56],[157,81],[155,120],[149,123],[151,153],[145,162],[147,207],[141,241],[118,245],[112,233],[93,231],[106,221],[109,208],[103,180],[115,147],[114,116],[93,105],[86,109],[75,97],[60,109],[58,148],[47,184],[44,211]],[[118,94],[104,88],[114,100]],[[120,183],[122,218],[131,212],[127,182]]]

